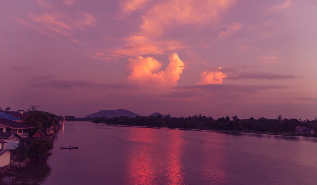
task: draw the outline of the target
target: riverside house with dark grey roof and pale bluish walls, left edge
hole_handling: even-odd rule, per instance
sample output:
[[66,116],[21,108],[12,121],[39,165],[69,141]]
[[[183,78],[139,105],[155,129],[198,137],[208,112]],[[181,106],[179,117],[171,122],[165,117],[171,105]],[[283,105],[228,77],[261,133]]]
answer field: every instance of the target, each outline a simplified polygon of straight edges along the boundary
[[0,132],[0,141],[2,149],[15,149],[19,146],[20,139],[23,138],[16,132]]

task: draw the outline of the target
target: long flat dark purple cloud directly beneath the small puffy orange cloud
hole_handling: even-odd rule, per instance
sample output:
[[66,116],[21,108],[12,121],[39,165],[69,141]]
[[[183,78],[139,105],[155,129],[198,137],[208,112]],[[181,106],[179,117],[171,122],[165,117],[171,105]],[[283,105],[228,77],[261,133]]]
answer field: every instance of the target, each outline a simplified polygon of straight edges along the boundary
[[173,89],[196,89],[209,93],[238,92],[238,93],[255,93],[259,90],[284,89],[287,86],[279,85],[234,85],[234,84],[206,84],[173,87]]

